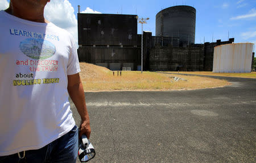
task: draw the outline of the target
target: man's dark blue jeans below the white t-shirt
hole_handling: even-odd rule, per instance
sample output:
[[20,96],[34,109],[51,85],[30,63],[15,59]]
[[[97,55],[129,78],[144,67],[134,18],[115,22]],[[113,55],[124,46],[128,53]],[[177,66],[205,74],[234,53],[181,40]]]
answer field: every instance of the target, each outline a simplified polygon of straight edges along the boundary
[[[71,131],[65,135],[59,137],[52,143],[44,146],[43,148],[36,150],[29,150],[25,152],[25,157],[19,159],[18,153],[11,154],[9,156],[1,156],[0,163],[13,163],[13,162],[67,162],[75,163],[78,153],[78,132],[77,126],[73,127]],[[23,152],[19,152],[20,157],[23,156]]]

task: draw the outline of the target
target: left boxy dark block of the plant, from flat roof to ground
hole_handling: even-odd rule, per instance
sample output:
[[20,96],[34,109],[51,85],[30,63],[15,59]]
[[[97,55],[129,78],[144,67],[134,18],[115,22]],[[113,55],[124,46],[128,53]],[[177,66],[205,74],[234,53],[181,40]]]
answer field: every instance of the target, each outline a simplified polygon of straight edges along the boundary
[[137,15],[77,14],[79,60],[110,70],[137,70]]

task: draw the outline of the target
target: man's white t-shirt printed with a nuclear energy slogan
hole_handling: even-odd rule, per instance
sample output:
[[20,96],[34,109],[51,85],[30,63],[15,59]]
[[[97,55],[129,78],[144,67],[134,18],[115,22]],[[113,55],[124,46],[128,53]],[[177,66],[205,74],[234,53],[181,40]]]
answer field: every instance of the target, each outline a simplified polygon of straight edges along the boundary
[[75,126],[67,75],[79,72],[71,34],[0,11],[0,156],[42,148]]

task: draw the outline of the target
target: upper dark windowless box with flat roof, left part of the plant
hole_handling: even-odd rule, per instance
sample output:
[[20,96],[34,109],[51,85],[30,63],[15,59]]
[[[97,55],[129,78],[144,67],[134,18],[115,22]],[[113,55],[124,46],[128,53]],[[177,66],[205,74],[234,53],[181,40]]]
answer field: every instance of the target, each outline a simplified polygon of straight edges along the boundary
[[136,16],[77,14],[79,45],[137,45]]

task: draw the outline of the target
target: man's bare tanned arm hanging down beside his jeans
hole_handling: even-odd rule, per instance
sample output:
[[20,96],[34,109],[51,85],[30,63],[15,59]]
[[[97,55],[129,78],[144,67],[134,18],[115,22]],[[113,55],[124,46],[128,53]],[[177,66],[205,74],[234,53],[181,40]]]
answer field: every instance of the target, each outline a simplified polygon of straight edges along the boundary
[[85,134],[90,137],[90,121],[85,104],[84,88],[79,73],[68,76],[68,93],[81,116],[79,137]]

